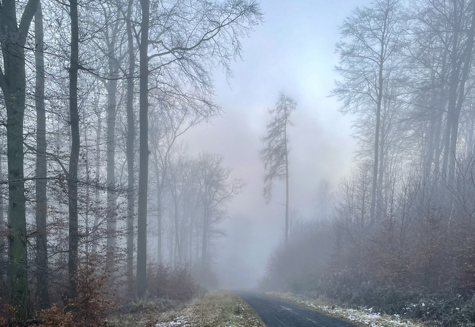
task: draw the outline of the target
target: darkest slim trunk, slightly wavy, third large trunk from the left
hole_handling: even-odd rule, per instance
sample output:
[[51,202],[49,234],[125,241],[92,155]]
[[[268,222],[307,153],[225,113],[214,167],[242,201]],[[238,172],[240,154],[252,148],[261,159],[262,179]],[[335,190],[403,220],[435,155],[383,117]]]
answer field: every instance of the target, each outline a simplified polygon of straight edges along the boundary
[[69,0],[71,18],[71,59],[69,67],[69,115],[71,123],[71,154],[67,193],[69,207],[69,248],[68,248],[68,298],[76,298],[77,246],[77,165],[79,161],[79,114],[77,111],[77,73],[79,68],[79,28],[77,21],[77,0]]

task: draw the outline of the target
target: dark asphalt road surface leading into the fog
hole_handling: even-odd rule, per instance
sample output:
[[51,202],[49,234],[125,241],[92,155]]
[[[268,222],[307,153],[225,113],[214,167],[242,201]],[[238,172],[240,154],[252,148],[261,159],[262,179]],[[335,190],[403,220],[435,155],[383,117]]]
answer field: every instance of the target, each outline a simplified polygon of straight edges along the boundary
[[257,311],[267,327],[356,327],[342,319],[261,293],[237,292],[237,295]]

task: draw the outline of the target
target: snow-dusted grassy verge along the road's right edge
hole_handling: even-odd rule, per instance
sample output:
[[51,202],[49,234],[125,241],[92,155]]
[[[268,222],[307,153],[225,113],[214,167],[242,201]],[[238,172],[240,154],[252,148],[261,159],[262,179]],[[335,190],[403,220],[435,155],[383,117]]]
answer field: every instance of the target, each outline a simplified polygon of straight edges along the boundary
[[400,327],[400,326],[412,326],[412,327],[428,327],[420,321],[414,321],[410,319],[404,319],[399,315],[390,316],[380,312],[373,312],[372,308],[361,309],[349,309],[333,305],[330,301],[325,299],[311,299],[302,295],[296,295],[293,293],[282,292],[266,292],[267,296],[272,298],[278,298],[283,301],[291,302],[300,305],[305,308],[317,310],[327,315],[339,317],[353,324],[359,326],[370,327]]

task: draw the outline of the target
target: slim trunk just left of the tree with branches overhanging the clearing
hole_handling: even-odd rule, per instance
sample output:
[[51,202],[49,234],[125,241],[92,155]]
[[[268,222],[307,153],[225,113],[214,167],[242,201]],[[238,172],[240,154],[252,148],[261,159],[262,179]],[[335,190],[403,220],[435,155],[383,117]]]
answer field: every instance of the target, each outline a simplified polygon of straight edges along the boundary
[[129,295],[133,294],[133,141],[135,138],[135,122],[133,116],[133,74],[135,69],[135,53],[133,51],[132,35],[132,5],[133,0],[129,0],[127,6],[127,41],[129,53],[129,76],[127,77],[127,285]]

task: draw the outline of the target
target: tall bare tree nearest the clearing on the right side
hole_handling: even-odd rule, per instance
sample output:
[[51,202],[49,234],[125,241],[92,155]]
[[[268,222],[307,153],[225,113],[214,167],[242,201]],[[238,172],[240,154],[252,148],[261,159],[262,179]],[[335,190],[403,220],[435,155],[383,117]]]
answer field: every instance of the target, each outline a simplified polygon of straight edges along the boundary
[[341,27],[345,40],[336,45],[341,64],[336,71],[342,74],[344,81],[337,82],[333,95],[343,100],[341,111],[372,115],[376,120],[371,221],[374,220],[378,188],[381,104],[385,81],[394,67],[402,33],[399,0],[378,0],[371,8],[353,11]]

